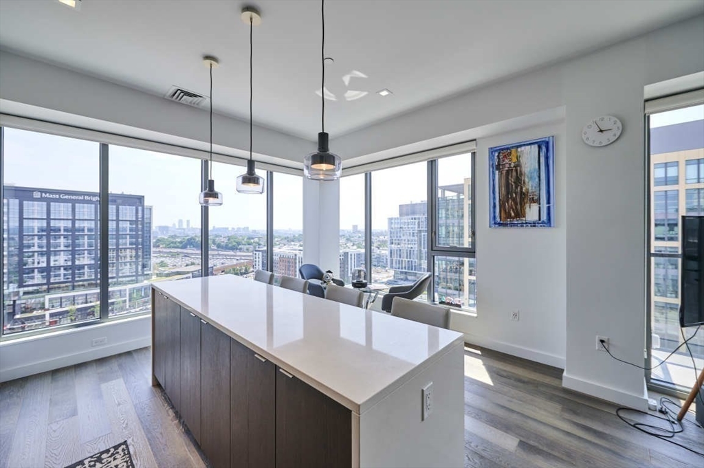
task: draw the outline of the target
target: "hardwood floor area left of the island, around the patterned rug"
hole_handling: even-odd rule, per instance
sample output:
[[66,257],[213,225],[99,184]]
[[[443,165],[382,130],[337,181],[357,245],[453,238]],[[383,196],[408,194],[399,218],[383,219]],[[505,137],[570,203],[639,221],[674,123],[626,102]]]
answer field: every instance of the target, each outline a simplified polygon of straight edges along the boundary
[[0,467],[65,467],[127,440],[137,467],[206,467],[142,348],[0,384]]

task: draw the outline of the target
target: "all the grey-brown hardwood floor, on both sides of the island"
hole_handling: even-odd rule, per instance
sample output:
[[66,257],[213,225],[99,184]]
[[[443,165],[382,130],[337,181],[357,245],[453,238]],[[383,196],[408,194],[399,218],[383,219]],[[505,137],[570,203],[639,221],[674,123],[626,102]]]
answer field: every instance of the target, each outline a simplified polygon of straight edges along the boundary
[[[562,370],[465,348],[465,467],[702,467],[632,429],[616,406],[562,388]],[[205,467],[149,348],[0,384],[0,468],[65,467],[125,439],[138,467]],[[687,419],[693,419],[689,414]],[[674,441],[704,450],[684,423]]]

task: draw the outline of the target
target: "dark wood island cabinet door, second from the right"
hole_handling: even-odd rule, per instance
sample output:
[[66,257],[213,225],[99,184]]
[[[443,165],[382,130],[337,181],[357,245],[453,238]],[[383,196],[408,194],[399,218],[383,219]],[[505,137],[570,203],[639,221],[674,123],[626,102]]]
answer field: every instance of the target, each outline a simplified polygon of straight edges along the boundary
[[232,340],[230,466],[276,464],[276,366]]

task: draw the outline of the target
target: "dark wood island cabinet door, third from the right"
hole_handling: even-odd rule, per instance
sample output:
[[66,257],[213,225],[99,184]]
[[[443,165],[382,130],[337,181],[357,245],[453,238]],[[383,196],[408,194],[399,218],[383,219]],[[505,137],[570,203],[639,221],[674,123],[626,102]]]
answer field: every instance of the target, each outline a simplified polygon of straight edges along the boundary
[[203,321],[201,448],[211,467],[230,466],[230,336]]

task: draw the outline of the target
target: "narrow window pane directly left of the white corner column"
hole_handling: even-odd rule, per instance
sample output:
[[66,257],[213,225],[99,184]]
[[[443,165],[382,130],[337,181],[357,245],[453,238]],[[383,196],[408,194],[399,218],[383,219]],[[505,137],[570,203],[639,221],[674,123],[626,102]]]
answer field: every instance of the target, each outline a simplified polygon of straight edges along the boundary
[[298,268],[303,265],[303,177],[275,172],[272,179],[273,265],[266,270],[298,277]]

